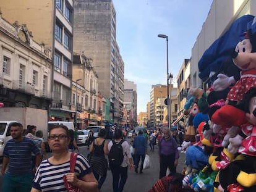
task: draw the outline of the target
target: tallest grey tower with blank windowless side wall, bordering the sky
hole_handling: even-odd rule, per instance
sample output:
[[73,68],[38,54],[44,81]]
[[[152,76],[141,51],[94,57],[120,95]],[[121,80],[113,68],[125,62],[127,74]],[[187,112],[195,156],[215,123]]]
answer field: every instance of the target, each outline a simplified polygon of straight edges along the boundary
[[116,42],[112,0],[77,0],[74,4],[74,51],[85,51],[98,73],[98,90],[111,101],[113,122],[123,122],[124,62]]

